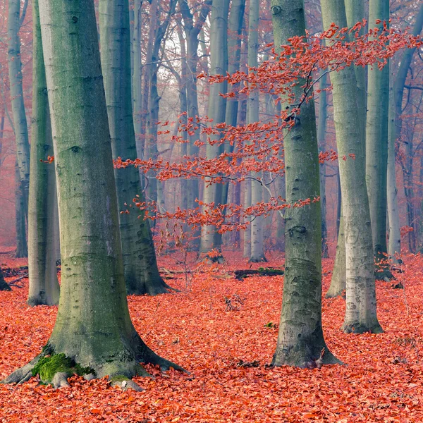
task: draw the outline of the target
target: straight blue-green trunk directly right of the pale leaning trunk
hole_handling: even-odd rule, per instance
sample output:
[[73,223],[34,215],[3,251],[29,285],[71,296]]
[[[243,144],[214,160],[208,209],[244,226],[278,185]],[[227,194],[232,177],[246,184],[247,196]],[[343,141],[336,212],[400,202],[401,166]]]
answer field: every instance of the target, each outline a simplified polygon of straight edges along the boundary
[[[376,20],[382,21],[376,25]],[[389,0],[370,0],[369,27],[389,25]],[[371,38],[372,39],[372,38]],[[386,175],[388,168],[388,104],[389,65],[382,70],[368,66],[367,73],[367,123],[366,123],[366,182],[369,195],[370,218],[376,278],[391,275],[383,262],[386,260]]]

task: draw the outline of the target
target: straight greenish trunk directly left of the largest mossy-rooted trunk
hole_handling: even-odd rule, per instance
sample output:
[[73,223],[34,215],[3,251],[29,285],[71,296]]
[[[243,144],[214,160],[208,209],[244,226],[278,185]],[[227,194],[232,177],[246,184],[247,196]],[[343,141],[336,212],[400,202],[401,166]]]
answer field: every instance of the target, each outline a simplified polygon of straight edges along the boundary
[[30,286],[27,304],[59,303],[56,269],[56,176],[47,81],[42,53],[38,0],[32,0],[32,119],[30,200],[28,204],[28,275]]

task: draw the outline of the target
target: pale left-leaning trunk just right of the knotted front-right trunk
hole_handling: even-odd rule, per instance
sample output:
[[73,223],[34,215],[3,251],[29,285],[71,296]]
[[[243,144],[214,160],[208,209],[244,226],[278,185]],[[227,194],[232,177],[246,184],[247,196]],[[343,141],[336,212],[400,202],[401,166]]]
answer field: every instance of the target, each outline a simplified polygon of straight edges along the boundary
[[[347,26],[343,1],[321,0],[324,28]],[[346,255],[346,307],[343,331],[382,331],[376,317],[372,226],[365,175],[365,140],[353,68],[331,73],[333,118],[338,145]],[[345,102],[348,98],[348,102]],[[353,157],[350,156],[353,155]]]

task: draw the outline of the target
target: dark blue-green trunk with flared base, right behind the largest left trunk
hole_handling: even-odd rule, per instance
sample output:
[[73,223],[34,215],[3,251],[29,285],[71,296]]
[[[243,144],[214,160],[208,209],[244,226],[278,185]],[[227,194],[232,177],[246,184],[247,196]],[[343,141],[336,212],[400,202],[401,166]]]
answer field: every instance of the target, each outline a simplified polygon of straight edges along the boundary
[[[131,111],[129,8],[127,0],[99,1],[102,72],[113,156],[136,159]],[[114,171],[119,210],[142,196],[140,173],[134,166]],[[170,288],[159,274],[149,221],[135,208],[119,214],[123,269],[129,294],[157,295]]]

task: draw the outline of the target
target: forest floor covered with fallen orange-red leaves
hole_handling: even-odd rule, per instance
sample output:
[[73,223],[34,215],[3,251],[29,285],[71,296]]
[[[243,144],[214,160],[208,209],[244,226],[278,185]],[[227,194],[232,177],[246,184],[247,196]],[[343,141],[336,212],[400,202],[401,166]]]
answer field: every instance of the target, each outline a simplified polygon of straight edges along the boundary
[[[191,376],[149,367],[154,379],[135,379],[140,393],[77,376],[57,391],[35,378],[0,385],[0,422],[423,422],[423,257],[405,257],[405,272],[396,274],[405,290],[377,283],[382,334],[342,333],[344,300],[323,300],[326,343],[348,365],[311,370],[266,366],[276,348],[283,276],[216,277],[250,267],[238,253],[226,256],[214,271],[168,281],[178,293],[128,298],[146,343]],[[0,262],[24,264],[6,256]],[[275,257],[266,266],[280,264]],[[159,266],[183,268],[174,257],[161,257]],[[332,266],[324,260],[324,292]],[[26,298],[27,280],[0,292],[0,379],[35,357],[54,326],[57,307],[31,308]]]

